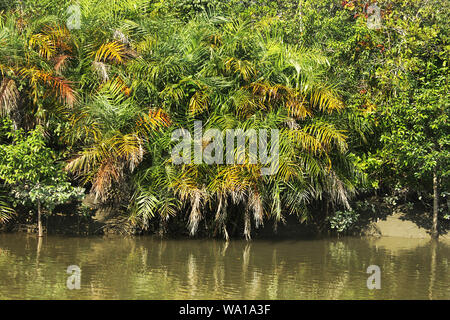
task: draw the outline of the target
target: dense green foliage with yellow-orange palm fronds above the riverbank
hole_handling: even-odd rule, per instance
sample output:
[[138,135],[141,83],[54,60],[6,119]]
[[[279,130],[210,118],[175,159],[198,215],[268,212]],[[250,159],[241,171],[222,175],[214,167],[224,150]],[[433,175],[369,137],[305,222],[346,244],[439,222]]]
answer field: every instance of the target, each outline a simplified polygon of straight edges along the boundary
[[[369,5],[4,2],[0,219],[77,198],[75,182],[143,229],[178,219],[192,235],[204,221],[249,239],[288,214],[344,232],[353,200],[399,190],[445,217],[448,3]],[[278,171],[174,164],[172,132],[194,121],[278,129]]]

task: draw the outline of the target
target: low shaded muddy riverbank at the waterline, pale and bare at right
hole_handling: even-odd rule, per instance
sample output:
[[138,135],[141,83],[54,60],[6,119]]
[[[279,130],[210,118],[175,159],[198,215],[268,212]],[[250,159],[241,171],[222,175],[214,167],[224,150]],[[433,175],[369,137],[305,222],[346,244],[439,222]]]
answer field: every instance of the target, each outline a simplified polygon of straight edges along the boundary
[[[396,237],[410,239],[430,239],[430,227],[424,221],[428,218],[426,213],[414,215],[405,212],[394,212],[390,215],[379,216],[375,219],[360,221],[351,235],[368,237]],[[133,225],[127,217],[113,216],[86,218],[78,215],[53,215],[44,222],[46,233],[53,235],[144,235],[160,234],[160,230],[144,231]],[[237,228],[231,228],[237,229]],[[318,236],[334,236],[330,232],[320,232],[316,225],[300,222],[295,216],[287,216],[284,223],[279,223],[274,230],[273,223],[266,223],[263,227],[253,230],[253,239],[311,239]],[[17,223],[4,226],[0,232],[12,233],[37,233],[37,224],[33,222]],[[230,233],[233,230],[230,231]],[[239,232],[233,232],[232,239],[240,239]],[[166,238],[189,238],[188,234],[166,232]],[[208,238],[206,235],[199,235],[196,238]],[[440,239],[450,241],[450,231],[448,228],[441,228]]]

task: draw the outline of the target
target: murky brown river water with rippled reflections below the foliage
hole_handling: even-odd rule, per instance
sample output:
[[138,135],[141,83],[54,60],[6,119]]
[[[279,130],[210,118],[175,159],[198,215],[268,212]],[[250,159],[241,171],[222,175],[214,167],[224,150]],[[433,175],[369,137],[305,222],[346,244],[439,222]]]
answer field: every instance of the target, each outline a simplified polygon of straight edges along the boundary
[[[81,289],[67,288],[67,267]],[[369,265],[381,289],[367,288]],[[0,299],[450,299],[450,244],[0,234]]]

